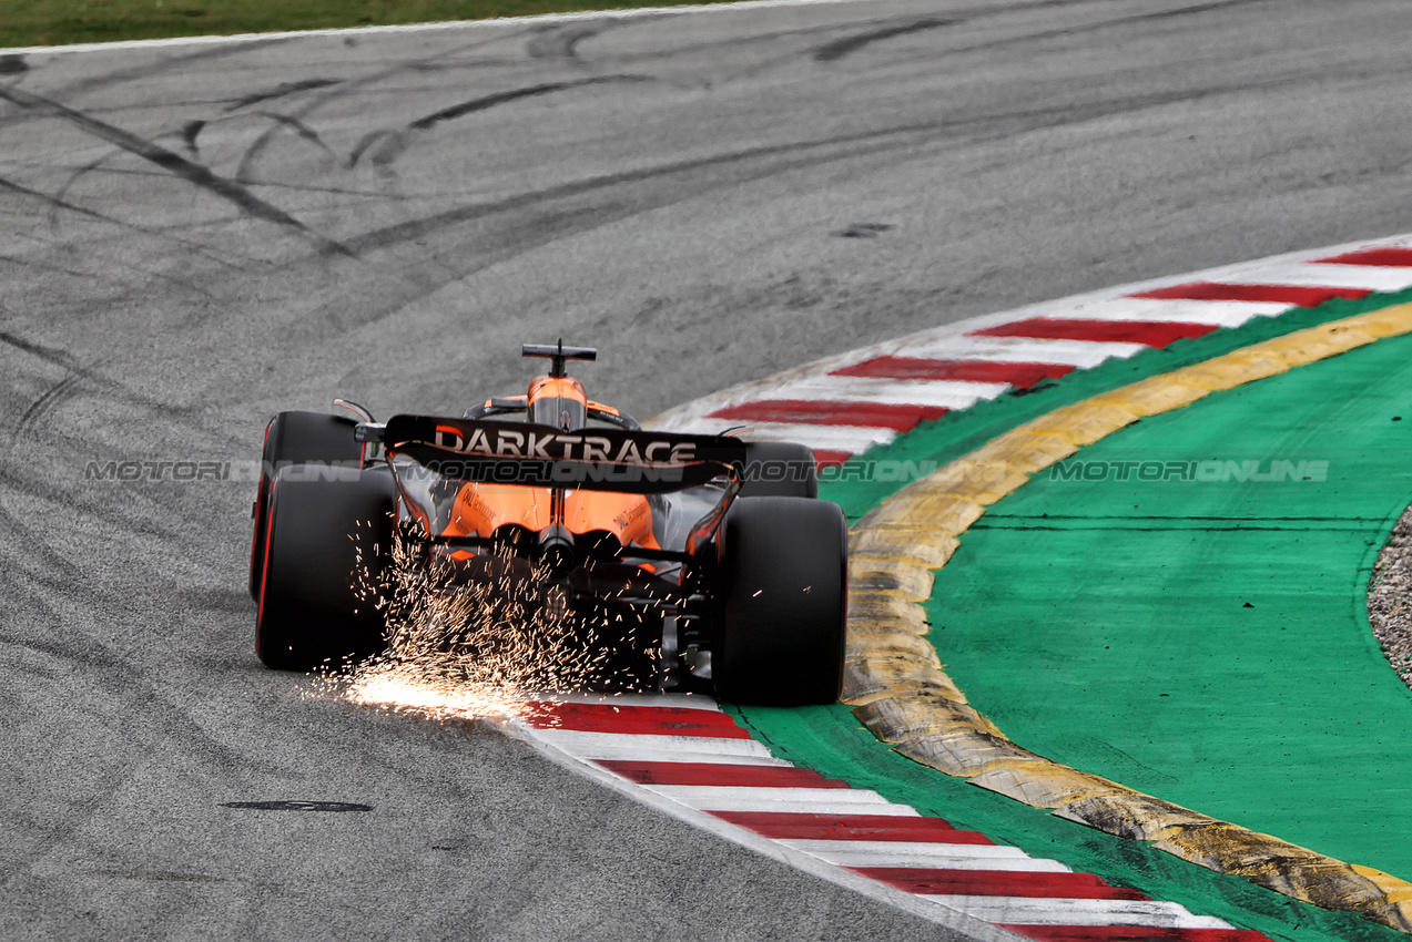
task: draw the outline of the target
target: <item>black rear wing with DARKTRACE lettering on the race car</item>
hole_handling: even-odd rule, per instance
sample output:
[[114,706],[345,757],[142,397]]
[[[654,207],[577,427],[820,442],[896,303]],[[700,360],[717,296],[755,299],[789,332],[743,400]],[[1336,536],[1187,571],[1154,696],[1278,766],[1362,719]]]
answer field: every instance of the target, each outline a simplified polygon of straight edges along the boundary
[[727,436],[630,429],[559,432],[522,422],[398,415],[364,423],[361,441],[381,441],[445,478],[477,484],[668,494],[716,478],[738,481],[746,443]]

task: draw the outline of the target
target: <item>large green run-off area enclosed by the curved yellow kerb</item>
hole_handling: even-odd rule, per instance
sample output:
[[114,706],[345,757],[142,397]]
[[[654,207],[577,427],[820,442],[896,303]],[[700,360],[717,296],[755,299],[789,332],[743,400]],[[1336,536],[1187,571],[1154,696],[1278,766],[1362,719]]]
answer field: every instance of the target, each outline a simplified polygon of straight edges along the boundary
[[[1063,479],[1076,461],[1106,479]],[[1299,463],[1315,479],[1291,479]],[[1066,464],[991,508],[938,577],[932,642],[971,704],[1056,761],[1412,874],[1412,697],[1365,602],[1412,498],[1412,337]]]

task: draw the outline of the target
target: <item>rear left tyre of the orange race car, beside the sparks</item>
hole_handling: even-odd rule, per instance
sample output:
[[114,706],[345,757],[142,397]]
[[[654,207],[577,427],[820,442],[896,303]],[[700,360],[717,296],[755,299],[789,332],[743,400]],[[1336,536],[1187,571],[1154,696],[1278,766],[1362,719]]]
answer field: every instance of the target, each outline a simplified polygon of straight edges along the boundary
[[387,644],[370,589],[388,565],[393,477],[329,479],[315,467],[285,468],[270,488],[256,654],[278,670],[337,667]]

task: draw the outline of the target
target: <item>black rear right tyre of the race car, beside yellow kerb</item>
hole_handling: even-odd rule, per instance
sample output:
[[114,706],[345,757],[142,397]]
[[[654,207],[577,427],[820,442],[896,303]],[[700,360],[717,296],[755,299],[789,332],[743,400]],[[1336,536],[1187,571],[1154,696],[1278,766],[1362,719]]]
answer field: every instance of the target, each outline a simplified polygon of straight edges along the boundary
[[802,498],[740,498],[722,533],[716,694],[737,704],[832,704],[843,681],[847,527]]

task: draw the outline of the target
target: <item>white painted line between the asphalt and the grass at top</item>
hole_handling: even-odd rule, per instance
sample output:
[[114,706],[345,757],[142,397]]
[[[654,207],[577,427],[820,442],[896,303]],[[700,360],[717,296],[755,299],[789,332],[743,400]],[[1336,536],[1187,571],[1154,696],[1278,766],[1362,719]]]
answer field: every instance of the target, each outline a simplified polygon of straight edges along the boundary
[[302,39],[306,37],[367,37],[398,32],[428,32],[432,30],[479,30],[484,27],[532,27],[545,23],[573,23],[576,20],[634,20],[689,13],[724,13],[771,10],[775,7],[839,6],[867,0],[743,0],[741,3],[712,3],[681,7],[638,7],[633,10],[590,10],[585,13],[541,13],[532,17],[493,17],[489,20],[448,20],[445,23],[404,23],[381,27],[345,27],[340,30],[285,30],[282,32],[237,32],[233,35],[172,37],[167,39],[124,39],[119,42],[73,42],[69,45],[31,45],[0,48],[0,55],[37,55],[64,52],[104,52],[109,49],[162,49],[182,45],[216,45],[222,42],[263,42],[268,39]]

